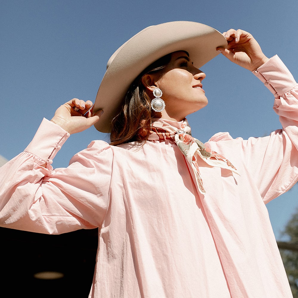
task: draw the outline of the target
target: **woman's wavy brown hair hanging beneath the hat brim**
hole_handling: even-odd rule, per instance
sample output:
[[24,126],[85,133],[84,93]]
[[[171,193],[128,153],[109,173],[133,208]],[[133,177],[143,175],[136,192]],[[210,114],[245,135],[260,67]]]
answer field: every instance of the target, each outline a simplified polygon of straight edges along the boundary
[[131,84],[123,99],[119,114],[111,122],[111,145],[148,140],[152,122],[151,100],[142,83],[142,77],[159,72],[162,76],[162,69],[170,60],[171,54],[156,60]]

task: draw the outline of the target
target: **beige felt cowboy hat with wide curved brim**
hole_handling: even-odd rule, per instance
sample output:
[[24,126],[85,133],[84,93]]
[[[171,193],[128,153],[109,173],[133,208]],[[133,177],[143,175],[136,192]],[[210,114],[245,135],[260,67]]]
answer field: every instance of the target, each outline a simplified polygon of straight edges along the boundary
[[195,67],[200,68],[218,55],[217,47],[226,47],[224,36],[204,24],[175,21],[150,26],[134,35],[108,60],[101,81],[94,113],[104,110],[94,125],[98,131],[110,132],[111,120],[135,78],[151,63],[172,52],[186,51]]

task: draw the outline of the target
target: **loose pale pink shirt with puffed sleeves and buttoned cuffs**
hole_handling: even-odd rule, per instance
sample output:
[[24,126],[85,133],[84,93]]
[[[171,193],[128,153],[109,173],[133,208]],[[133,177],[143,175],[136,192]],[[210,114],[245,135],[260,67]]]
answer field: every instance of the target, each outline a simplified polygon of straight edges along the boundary
[[240,176],[198,161],[206,195],[198,193],[170,140],[93,141],[53,170],[69,134],[44,119],[0,169],[0,225],[50,234],[100,227],[89,297],[292,297],[264,203],[298,180],[298,87],[277,56],[255,75],[275,94],[283,130],[207,142]]

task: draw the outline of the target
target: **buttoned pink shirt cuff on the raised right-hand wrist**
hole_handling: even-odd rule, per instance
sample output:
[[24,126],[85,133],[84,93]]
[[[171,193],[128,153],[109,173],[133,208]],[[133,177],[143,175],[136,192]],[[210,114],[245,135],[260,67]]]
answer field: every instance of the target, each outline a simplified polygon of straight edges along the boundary
[[275,98],[296,86],[296,81],[282,60],[275,55],[253,71]]

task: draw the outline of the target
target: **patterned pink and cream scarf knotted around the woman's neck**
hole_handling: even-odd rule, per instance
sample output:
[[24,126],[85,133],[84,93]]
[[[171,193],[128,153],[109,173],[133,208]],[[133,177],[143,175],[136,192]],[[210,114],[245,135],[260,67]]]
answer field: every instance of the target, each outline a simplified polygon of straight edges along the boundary
[[187,166],[193,171],[197,187],[200,193],[205,194],[198,158],[212,167],[221,167],[237,173],[237,169],[222,155],[206,147],[201,141],[191,136],[188,122],[184,119],[181,122],[169,121],[160,118],[153,119],[149,140],[171,140],[174,141],[187,160]]

